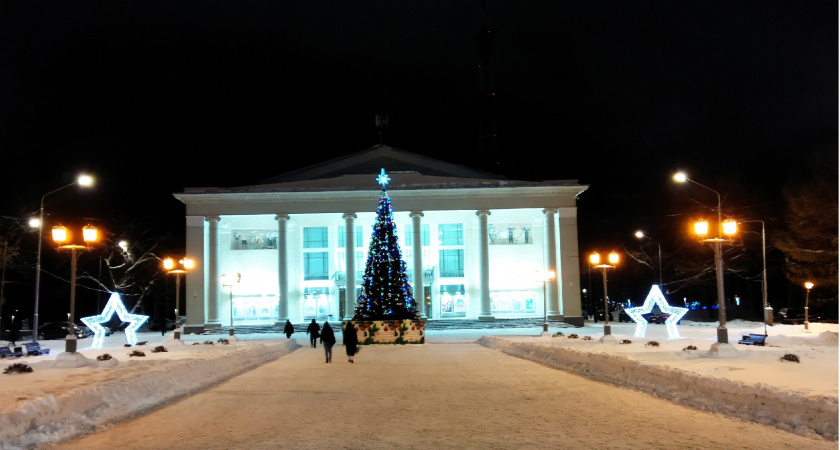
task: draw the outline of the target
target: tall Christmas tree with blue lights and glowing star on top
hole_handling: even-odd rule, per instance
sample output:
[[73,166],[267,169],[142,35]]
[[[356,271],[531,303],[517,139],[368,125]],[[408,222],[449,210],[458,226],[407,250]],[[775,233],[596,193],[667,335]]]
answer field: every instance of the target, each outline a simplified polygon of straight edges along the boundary
[[391,198],[385,187],[390,181],[385,169],[382,169],[377,181],[382,185],[382,193],[353,320],[419,320],[411,285],[405,274]]

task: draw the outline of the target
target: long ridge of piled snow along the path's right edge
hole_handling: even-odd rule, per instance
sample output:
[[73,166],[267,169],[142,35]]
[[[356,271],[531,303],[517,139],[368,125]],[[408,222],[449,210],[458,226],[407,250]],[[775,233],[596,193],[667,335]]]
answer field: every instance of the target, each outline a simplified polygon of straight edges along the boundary
[[816,433],[825,439],[838,438],[837,398],[712,378],[674,366],[540,344],[537,340],[525,342],[504,336],[484,336],[478,343],[553,369],[653,394],[691,408],[750,420],[801,436]]

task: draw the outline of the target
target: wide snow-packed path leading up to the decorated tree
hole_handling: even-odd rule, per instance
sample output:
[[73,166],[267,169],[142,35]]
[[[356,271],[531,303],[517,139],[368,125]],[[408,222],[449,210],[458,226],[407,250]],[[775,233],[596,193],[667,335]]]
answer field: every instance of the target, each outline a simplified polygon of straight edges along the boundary
[[319,346],[60,449],[836,449],[470,342]]

